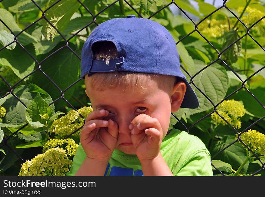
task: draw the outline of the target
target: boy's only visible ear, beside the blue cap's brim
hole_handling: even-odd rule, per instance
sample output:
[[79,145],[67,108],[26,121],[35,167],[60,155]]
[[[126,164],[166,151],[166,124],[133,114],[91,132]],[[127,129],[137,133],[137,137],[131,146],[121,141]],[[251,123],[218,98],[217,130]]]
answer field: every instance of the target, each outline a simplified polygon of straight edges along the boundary
[[187,86],[184,82],[178,82],[173,86],[173,90],[171,93],[171,112],[176,112],[179,110],[181,103],[184,99],[184,95],[186,92]]

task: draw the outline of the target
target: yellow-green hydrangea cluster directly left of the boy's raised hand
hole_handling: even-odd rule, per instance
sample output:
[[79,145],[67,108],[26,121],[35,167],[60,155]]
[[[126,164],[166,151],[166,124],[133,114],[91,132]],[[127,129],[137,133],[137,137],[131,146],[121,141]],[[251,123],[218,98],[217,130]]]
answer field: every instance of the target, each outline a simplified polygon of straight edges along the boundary
[[[54,133],[55,138],[63,138],[70,135],[76,129],[84,125],[84,119],[86,119],[87,115],[92,111],[93,109],[91,106],[82,107],[77,111],[69,111],[66,115],[62,116],[52,123],[50,133]],[[82,115],[84,119],[80,115]],[[73,136],[79,138],[80,132],[81,130],[75,132]]]

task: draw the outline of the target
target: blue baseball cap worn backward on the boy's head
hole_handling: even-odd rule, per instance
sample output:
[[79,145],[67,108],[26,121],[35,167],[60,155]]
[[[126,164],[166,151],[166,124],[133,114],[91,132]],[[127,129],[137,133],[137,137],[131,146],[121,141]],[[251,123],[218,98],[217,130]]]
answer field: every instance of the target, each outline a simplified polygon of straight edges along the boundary
[[[93,60],[92,45],[96,42],[113,42],[118,58]],[[128,15],[99,24],[86,39],[81,53],[81,78],[97,72],[141,72],[173,75],[186,83],[183,108],[197,108],[199,100],[180,70],[179,54],[170,32],[152,20]]]

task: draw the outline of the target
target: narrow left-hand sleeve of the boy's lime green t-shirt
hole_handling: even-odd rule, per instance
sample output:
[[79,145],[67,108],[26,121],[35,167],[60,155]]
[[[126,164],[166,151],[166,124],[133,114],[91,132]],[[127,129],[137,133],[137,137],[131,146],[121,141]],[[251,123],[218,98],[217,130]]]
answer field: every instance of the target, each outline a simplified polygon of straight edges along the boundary
[[78,169],[80,168],[80,166],[82,165],[85,158],[86,158],[86,153],[83,147],[81,146],[81,143],[79,143],[79,146],[76,150],[76,154],[73,157],[72,166],[70,168],[70,171],[67,172],[66,176],[74,176],[78,171]]

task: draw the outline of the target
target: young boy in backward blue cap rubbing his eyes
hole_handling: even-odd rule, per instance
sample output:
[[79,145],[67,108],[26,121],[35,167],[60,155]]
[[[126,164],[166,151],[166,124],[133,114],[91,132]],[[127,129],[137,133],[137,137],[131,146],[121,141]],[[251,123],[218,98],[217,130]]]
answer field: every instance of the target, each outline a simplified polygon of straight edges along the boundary
[[101,23],[83,46],[81,77],[93,112],[68,176],[212,175],[201,140],[168,131],[171,112],[199,102],[164,26],[134,15]]

